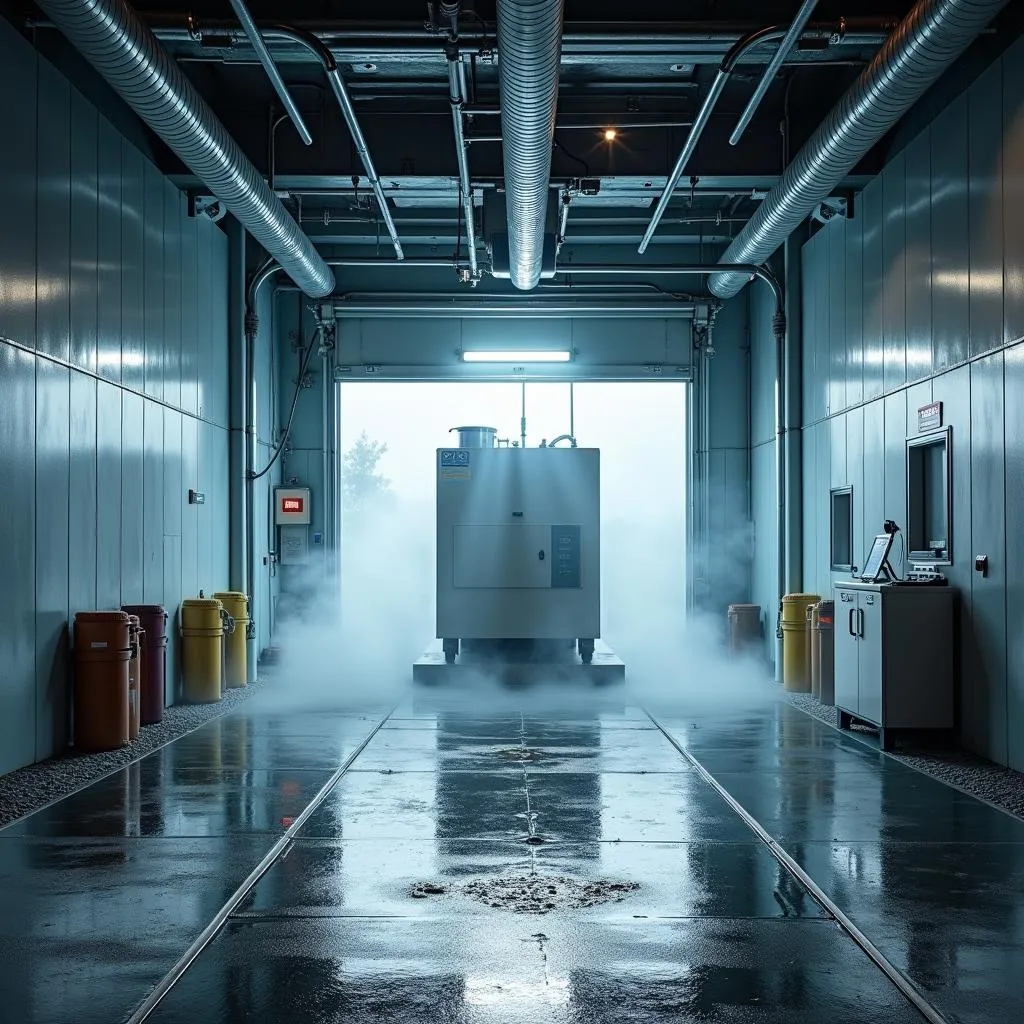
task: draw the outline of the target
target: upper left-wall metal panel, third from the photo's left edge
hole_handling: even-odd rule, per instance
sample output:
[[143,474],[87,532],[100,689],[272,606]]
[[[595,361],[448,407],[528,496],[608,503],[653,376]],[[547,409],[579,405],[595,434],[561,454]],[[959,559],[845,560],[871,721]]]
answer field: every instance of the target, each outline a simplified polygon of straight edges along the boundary
[[96,372],[99,333],[99,118],[80,92],[71,93],[71,361]]

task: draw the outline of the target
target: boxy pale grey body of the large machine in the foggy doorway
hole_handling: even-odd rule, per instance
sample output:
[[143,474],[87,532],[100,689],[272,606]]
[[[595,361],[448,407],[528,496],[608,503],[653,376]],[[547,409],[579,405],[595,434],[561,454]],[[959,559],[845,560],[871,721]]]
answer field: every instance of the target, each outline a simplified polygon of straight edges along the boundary
[[600,637],[600,452],[438,449],[436,459],[437,637]]

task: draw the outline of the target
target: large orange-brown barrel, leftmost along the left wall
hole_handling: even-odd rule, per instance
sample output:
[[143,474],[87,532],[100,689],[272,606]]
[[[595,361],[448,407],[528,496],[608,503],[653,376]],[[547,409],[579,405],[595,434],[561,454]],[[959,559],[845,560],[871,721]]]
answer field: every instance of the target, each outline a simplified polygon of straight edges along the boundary
[[75,615],[75,749],[113,751],[128,743],[130,621],[123,611]]

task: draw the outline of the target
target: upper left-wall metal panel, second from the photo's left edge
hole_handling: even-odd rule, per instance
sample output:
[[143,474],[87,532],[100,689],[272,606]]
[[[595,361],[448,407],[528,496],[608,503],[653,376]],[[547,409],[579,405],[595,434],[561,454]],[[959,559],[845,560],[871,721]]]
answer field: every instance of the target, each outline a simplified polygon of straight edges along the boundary
[[47,63],[39,66],[39,180],[36,223],[38,294],[36,348],[69,356],[71,288],[71,86]]

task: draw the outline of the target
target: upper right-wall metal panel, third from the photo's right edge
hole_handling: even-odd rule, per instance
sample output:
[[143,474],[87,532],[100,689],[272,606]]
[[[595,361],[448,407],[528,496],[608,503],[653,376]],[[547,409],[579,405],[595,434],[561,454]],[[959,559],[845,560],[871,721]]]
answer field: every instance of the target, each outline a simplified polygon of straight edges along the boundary
[[967,96],[932,125],[932,367],[963,362],[971,332]]

